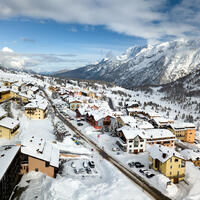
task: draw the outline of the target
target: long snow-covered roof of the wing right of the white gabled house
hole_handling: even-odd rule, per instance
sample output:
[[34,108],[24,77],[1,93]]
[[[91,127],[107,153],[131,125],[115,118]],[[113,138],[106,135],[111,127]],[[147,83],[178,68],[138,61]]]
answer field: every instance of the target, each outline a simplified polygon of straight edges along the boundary
[[147,129],[145,133],[149,139],[175,138],[175,135],[167,129]]

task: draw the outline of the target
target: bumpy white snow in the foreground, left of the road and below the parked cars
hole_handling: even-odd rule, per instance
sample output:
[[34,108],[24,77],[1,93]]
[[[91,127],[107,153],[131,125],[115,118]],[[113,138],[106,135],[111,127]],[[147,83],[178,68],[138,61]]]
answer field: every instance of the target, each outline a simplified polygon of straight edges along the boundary
[[[147,200],[151,199],[144,191],[133,184],[110,163],[96,156],[93,158],[97,176],[74,174],[58,175],[56,179],[40,175],[32,179],[29,174],[23,177],[20,185],[29,185],[20,200]],[[70,166],[69,166],[70,167]],[[37,175],[38,176],[38,175]]]

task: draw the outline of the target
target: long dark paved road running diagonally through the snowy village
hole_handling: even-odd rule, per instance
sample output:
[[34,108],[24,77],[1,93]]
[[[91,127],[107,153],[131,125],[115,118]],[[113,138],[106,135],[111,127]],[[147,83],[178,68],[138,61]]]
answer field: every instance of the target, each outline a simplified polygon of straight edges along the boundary
[[139,185],[148,195],[150,195],[152,198],[157,200],[170,200],[169,197],[162,194],[159,190],[152,187],[148,182],[146,182],[141,176],[139,176],[137,173],[129,170],[127,167],[125,167],[123,164],[121,164],[118,160],[107,154],[105,151],[103,151],[94,141],[92,141],[90,138],[85,136],[81,133],[75,126],[73,126],[68,119],[66,119],[63,115],[61,115],[55,106],[52,104],[51,99],[47,96],[46,92],[43,91],[46,98],[51,103],[55,113],[57,113],[57,117],[60,118],[70,129],[72,129],[76,134],[78,134],[83,140],[85,140],[88,144],[90,144],[93,148],[96,149],[96,151],[106,160],[108,160],[110,163],[112,163],[115,167],[117,167],[124,175],[126,175],[130,180],[132,180],[134,183]]

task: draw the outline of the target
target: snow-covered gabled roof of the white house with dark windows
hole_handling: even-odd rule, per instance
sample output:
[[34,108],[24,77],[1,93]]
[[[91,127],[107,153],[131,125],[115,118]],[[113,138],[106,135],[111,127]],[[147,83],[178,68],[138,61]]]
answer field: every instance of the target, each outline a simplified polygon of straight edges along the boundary
[[117,131],[122,131],[124,134],[124,137],[128,140],[134,139],[136,136],[140,136],[141,138],[146,138],[144,131],[142,131],[140,129],[131,128],[129,126],[123,126],[119,129],[117,129]]

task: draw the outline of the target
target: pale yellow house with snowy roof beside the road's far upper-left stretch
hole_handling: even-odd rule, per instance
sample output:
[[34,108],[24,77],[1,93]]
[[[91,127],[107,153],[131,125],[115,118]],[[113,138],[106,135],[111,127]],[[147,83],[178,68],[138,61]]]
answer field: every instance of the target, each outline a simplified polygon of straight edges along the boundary
[[31,119],[44,119],[47,116],[47,102],[31,102],[25,107],[25,115]]

